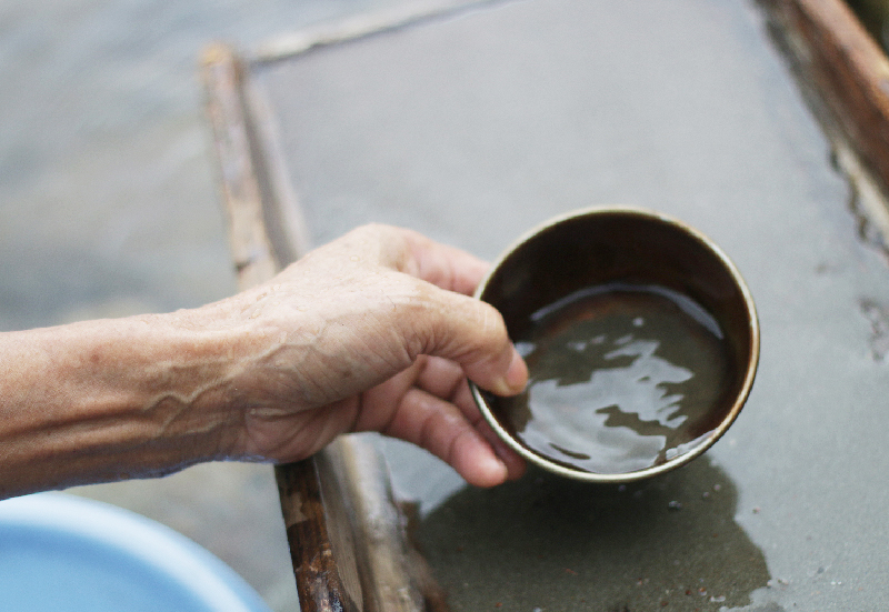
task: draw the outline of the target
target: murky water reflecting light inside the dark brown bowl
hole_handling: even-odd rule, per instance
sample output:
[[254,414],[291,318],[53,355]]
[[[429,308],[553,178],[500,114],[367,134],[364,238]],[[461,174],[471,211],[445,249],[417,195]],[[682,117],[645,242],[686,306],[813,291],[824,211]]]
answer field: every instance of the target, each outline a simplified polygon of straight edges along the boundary
[[573,293],[519,339],[528,390],[505,402],[529,449],[581,470],[626,473],[686,452],[723,414],[730,358],[717,321],[657,285]]

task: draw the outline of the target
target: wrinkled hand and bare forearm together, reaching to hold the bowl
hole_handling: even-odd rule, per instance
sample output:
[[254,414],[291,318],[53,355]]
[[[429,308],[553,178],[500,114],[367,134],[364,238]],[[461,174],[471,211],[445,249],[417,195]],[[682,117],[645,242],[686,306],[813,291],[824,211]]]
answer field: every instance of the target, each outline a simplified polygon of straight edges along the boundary
[[485,270],[370,225],[199,309],[2,333],[0,495],[292,461],[367,430],[477,485],[516,478],[467,384],[511,394],[528,375],[500,314],[468,297]]

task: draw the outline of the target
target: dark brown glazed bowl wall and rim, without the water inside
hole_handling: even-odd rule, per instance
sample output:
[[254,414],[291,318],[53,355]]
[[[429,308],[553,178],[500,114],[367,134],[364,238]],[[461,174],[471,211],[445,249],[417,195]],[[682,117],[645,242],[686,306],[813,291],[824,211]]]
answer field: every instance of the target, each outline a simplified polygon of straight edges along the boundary
[[516,415],[509,414],[516,410],[513,402],[472,388],[488,422],[526,459],[593,482],[639,480],[701,454],[738,415],[752,387],[759,355],[753,302],[731,261],[696,230],[649,211],[589,209],[550,221],[509,249],[477,294],[502,313],[515,341],[532,332],[535,319],[548,307],[577,292],[615,284],[657,285],[690,298],[721,329],[727,374],[705,418],[687,425],[695,431],[682,432],[693,444],[680,447],[681,451],[657,464],[628,472],[578,469],[522,443],[516,435]]

